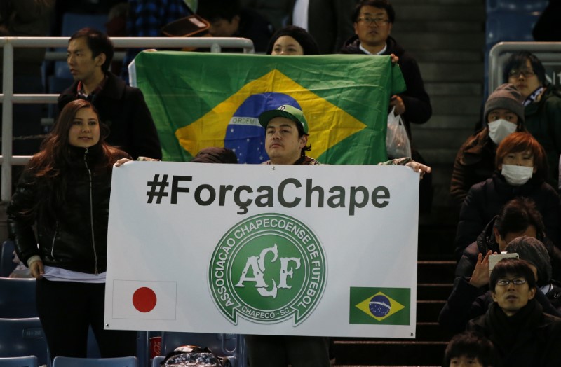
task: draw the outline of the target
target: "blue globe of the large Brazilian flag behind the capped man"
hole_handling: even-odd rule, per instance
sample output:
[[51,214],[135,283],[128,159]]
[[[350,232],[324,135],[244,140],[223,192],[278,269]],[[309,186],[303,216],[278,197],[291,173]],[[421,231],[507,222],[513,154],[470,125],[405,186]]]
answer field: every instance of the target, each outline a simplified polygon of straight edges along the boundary
[[239,163],[259,164],[269,160],[265,151],[265,132],[257,118],[264,111],[283,104],[302,109],[289,95],[267,92],[251,95],[236,110],[228,123],[224,147],[236,153]]

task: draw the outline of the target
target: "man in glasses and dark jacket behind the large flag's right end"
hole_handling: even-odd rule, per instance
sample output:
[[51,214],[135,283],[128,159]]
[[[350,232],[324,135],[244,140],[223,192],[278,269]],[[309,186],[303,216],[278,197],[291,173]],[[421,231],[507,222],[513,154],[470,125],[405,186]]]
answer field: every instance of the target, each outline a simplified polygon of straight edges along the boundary
[[[360,1],[353,13],[355,36],[346,41],[341,53],[365,55],[396,55],[407,90],[391,96],[390,111],[403,119],[407,135],[411,138],[411,123],[426,123],[433,113],[431,99],[424,88],[417,61],[390,36],[396,12],[385,0]],[[388,111],[388,112],[390,112]],[[396,157],[393,157],[396,158]],[[425,163],[418,151],[412,149],[412,158]],[[425,163],[426,164],[426,163]],[[419,209],[424,212],[431,206],[431,175],[421,181]]]

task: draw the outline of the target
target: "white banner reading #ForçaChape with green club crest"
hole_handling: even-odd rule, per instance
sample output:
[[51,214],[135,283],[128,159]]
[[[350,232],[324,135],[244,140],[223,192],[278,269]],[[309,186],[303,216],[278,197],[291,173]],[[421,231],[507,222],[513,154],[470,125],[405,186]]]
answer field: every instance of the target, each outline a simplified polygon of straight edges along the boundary
[[113,169],[106,328],[414,338],[419,174]]

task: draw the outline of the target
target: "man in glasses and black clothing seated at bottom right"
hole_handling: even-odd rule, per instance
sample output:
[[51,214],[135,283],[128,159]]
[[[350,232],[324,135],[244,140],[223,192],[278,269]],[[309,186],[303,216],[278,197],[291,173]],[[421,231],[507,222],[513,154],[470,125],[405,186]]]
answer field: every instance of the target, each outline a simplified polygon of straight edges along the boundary
[[536,279],[528,263],[499,261],[489,286],[494,303],[469,321],[468,331],[492,341],[498,366],[561,366],[561,319],[543,313],[536,302]]

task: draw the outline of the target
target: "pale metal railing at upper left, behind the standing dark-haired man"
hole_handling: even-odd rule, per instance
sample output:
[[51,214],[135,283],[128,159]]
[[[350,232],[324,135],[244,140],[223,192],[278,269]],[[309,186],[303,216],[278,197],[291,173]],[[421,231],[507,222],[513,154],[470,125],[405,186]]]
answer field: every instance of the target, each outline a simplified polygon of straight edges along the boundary
[[[4,48],[4,65],[0,103],[2,108],[2,155],[0,155],[1,190],[0,200],[10,200],[12,193],[12,166],[25,165],[30,156],[12,155],[13,104],[14,103],[56,103],[58,95],[25,95],[13,93],[13,49],[22,48],[66,48],[69,37],[0,37],[0,47]],[[235,37],[114,37],[115,48],[210,48],[219,53],[222,48],[243,48],[244,53],[254,53],[250,39]],[[65,60],[66,53],[55,51],[46,55],[46,60]]]

